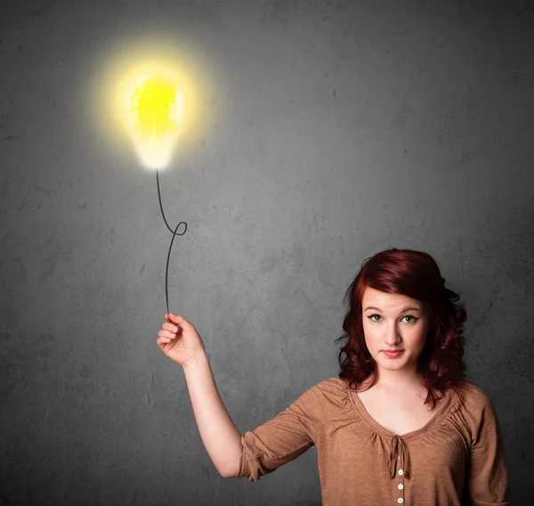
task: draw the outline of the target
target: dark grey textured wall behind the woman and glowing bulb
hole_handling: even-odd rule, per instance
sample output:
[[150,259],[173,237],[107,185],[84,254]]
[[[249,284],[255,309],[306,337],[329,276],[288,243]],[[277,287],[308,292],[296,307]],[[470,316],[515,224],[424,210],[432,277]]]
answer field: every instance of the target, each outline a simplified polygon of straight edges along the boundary
[[320,504],[315,448],[220,477],[156,346],[155,175],[86,98],[154,37],[209,76],[210,122],[161,175],[189,224],[169,297],[241,432],[337,375],[361,262],[424,249],[531,504],[534,10],[465,0],[0,4],[0,502]]

